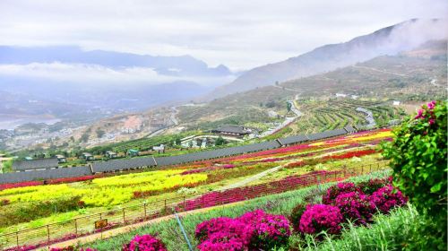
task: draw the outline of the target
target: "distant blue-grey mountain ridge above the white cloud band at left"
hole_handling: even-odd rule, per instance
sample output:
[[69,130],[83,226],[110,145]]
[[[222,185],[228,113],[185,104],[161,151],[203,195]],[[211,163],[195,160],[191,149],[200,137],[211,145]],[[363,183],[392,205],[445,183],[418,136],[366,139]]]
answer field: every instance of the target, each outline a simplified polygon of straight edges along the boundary
[[78,47],[9,47],[0,46],[1,65],[31,63],[102,65],[112,68],[148,67],[158,74],[174,76],[226,76],[228,67],[209,67],[193,56],[150,56],[115,51],[83,51]]

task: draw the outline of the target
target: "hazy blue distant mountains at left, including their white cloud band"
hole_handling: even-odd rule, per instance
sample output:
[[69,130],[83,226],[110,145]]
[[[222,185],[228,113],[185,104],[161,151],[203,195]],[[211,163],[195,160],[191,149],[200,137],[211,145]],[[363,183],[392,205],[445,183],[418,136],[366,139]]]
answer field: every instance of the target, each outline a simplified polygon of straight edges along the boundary
[[[39,100],[35,105],[40,108],[22,106],[19,114],[24,116],[29,108],[30,115],[45,111],[66,117],[73,114],[67,109],[70,105],[112,112],[144,110],[191,100],[234,78],[227,66],[210,67],[193,56],[0,46],[2,91],[10,97],[29,95]],[[17,105],[11,99],[4,102],[6,107]]]

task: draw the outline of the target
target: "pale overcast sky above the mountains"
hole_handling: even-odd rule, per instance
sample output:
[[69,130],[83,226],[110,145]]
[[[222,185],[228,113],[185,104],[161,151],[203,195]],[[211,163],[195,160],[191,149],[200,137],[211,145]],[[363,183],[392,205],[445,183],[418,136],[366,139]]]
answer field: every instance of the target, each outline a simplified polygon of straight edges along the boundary
[[1,0],[0,45],[190,55],[247,70],[411,18],[446,0]]

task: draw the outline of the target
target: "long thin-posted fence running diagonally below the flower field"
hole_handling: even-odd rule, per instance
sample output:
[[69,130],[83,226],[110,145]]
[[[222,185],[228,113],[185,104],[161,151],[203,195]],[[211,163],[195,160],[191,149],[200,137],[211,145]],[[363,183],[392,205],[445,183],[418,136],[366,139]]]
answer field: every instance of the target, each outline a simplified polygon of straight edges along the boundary
[[[201,195],[178,196],[152,203],[142,203],[119,210],[100,212],[82,216],[69,221],[61,221],[45,226],[22,229],[0,235],[0,248],[3,250],[30,250],[45,247],[72,238],[90,235],[95,232],[113,229],[137,222],[148,221],[177,212],[206,208],[225,203],[234,203],[264,195],[280,194],[300,187],[340,181],[387,169],[388,161],[377,161],[368,165],[350,167],[338,171],[323,171],[297,177],[289,177],[267,184],[243,186]],[[107,220],[105,227],[95,229],[95,222]]]

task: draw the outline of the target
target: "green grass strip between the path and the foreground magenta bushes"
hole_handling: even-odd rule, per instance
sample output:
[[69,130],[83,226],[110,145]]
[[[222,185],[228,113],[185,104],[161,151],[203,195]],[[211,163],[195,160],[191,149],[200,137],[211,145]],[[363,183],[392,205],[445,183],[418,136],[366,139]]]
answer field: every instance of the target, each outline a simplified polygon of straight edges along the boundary
[[[377,172],[370,176],[352,178],[355,182],[366,180],[370,177],[384,177],[388,172]],[[209,212],[201,212],[186,215],[182,218],[182,222],[187,236],[196,246],[198,243],[194,240],[194,229],[197,224],[202,221],[209,220],[220,216],[236,217],[244,212],[253,211],[255,209],[263,209],[266,212],[289,215],[297,203],[304,203],[305,200],[319,200],[326,188],[332,184],[325,184],[320,187],[310,186],[296,191],[283,193],[280,195],[269,195],[262,198],[237,203],[234,205],[223,206]],[[134,229],[125,234],[118,235],[113,238],[98,240],[93,243],[84,245],[98,250],[120,250],[123,244],[129,242],[136,234],[157,234],[168,247],[168,250],[188,250],[185,239],[178,227],[176,220],[161,221],[157,224],[151,224],[140,229]]]

